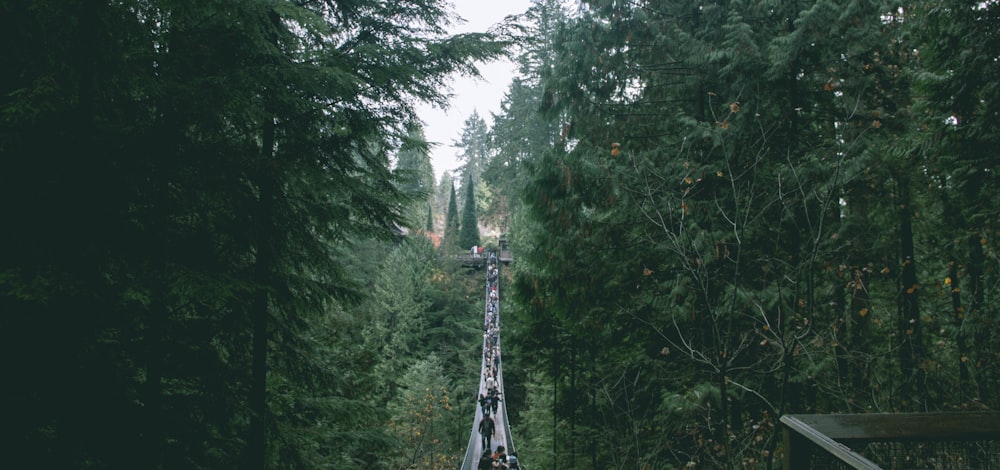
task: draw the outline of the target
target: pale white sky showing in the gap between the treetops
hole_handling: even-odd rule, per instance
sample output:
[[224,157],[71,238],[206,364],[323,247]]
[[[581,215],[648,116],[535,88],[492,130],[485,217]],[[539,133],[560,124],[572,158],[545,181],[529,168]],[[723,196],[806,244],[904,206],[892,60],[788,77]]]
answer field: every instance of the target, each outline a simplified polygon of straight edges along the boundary
[[[465,23],[453,26],[452,33],[483,32],[504,17],[527,11],[531,0],[452,0],[458,16]],[[492,126],[491,113],[500,112],[500,102],[517,71],[517,66],[508,61],[479,64],[482,79],[456,77],[451,82],[451,106],[440,110],[428,105],[417,108],[424,122],[424,133],[431,142],[431,164],[434,178],[440,178],[445,170],[458,167],[455,155],[458,149],[452,147],[462,134],[462,125],[473,111]]]

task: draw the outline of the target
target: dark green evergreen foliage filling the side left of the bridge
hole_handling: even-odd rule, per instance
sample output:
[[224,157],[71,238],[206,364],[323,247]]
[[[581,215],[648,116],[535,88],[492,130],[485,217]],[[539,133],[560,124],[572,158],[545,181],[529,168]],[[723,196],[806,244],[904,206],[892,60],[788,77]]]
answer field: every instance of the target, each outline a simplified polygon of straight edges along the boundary
[[0,10],[8,458],[375,468],[350,250],[421,196],[390,165],[415,104],[504,44],[435,2]]

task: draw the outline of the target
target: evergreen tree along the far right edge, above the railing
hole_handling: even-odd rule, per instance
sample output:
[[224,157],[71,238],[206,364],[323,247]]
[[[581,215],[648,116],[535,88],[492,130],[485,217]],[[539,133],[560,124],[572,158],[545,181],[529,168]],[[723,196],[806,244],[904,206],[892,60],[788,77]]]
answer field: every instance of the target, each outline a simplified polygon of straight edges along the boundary
[[897,140],[894,151],[909,157],[903,165],[931,175],[928,187],[937,190],[932,201],[940,201],[941,229],[949,234],[942,238],[955,240],[941,253],[947,262],[938,261],[948,272],[934,273],[946,276],[950,296],[951,321],[941,326],[950,332],[946,344],[955,353],[944,362],[958,369],[962,397],[990,408],[1000,406],[1000,341],[990,334],[1000,311],[991,306],[987,287],[998,274],[987,262],[995,250],[989,227],[997,225],[1000,204],[990,189],[1000,161],[1000,89],[993,78],[1000,65],[989,52],[1000,46],[998,12],[995,2],[920,2],[892,17],[908,27],[919,51],[919,62],[912,62],[919,68],[910,72],[916,82],[911,115],[919,125]]

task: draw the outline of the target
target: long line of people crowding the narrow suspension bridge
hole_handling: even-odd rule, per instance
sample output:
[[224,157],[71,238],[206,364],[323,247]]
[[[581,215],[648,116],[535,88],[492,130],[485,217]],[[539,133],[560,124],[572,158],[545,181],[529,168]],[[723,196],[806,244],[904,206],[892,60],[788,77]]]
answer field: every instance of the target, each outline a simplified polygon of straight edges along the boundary
[[496,253],[490,253],[486,265],[486,316],[483,323],[483,380],[485,393],[479,394],[479,406],[482,419],[479,421],[479,435],[482,438],[482,453],[479,458],[479,470],[519,469],[517,453],[507,454],[503,445],[493,449],[493,436],[497,432],[496,416],[500,402],[503,401],[501,383],[498,377],[500,366],[500,327],[498,291],[500,271],[497,266]]

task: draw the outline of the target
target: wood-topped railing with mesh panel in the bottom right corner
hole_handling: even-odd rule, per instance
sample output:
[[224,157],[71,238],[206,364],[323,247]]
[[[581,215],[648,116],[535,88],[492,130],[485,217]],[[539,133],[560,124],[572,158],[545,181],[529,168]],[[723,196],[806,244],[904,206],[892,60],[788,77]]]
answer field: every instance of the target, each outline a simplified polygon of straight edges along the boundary
[[1000,412],[781,417],[785,470],[1000,469]]

